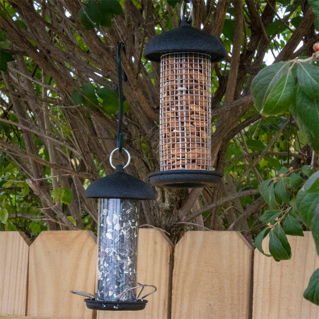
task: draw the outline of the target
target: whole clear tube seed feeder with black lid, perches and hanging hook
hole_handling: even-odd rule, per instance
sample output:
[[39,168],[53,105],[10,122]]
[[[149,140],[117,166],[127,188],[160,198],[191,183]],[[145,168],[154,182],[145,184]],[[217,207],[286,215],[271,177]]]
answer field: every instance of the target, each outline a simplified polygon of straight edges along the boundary
[[[151,186],[124,172],[129,165],[130,153],[122,148],[123,93],[118,47],[119,71],[119,126],[117,148],[110,154],[110,165],[115,173],[97,179],[85,190],[85,196],[98,198],[98,265],[96,293],[71,291],[86,296],[86,306],[94,310],[142,310],[147,300],[144,298],[155,292],[153,285],[136,282],[137,238],[139,200],[155,199]],[[112,156],[116,151],[127,153],[126,165],[114,166]],[[145,287],[153,291],[142,295]]]

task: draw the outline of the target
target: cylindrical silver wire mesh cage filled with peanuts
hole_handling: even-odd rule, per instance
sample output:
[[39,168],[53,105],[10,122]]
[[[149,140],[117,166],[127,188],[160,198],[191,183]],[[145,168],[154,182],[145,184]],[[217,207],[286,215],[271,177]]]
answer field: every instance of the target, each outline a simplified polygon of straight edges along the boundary
[[211,56],[160,59],[160,170],[211,169]]

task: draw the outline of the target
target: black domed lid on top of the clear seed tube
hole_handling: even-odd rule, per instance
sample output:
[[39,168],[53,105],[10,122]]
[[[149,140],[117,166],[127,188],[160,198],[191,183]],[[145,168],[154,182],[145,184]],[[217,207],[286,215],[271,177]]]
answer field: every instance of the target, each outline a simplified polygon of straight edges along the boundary
[[155,199],[151,186],[143,181],[124,173],[122,165],[116,165],[116,172],[99,178],[85,190],[86,197],[95,198],[126,198]]

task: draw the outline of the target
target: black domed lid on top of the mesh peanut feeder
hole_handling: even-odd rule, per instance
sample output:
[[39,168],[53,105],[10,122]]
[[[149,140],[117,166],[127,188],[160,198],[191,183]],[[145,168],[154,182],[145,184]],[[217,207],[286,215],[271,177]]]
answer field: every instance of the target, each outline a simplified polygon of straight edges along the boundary
[[144,50],[144,57],[160,62],[161,55],[174,52],[198,52],[211,55],[212,62],[219,62],[227,56],[221,40],[212,34],[191,27],[184,18],[181,27],[163,32],[151,39]]

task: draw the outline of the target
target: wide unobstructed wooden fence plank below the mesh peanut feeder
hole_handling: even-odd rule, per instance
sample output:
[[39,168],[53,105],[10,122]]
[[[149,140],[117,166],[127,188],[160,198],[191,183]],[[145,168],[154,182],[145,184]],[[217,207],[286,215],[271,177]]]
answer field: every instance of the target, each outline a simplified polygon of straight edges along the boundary
[[172,318],[248,318],[253,248],[237,232],[190,231],[174,254]]

